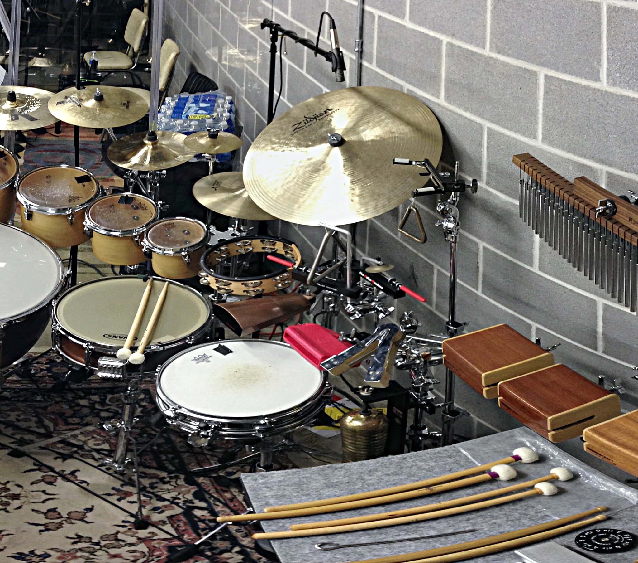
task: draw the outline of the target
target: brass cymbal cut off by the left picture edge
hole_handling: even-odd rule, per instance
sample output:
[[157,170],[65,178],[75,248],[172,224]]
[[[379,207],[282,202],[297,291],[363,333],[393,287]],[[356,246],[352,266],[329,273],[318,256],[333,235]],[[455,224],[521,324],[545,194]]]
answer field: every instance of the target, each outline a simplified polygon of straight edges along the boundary
[[52,95],[29,86],[0,86],[0,130],[29,131],[56,123],[47,107]]

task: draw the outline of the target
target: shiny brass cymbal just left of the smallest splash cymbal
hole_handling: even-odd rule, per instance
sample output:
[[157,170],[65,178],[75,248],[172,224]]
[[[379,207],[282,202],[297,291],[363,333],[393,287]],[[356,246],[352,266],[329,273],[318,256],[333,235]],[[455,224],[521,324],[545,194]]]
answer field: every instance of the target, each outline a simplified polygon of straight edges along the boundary
[[127,170],[164,170],[188,162],[195,151],[186,148],[186,135],[172,131],[134,133],[108,147],[108,158]]

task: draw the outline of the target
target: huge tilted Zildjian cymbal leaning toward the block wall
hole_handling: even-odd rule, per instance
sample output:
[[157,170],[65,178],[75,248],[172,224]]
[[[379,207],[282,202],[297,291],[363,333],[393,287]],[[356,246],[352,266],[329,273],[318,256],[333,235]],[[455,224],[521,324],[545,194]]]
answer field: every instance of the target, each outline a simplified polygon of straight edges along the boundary
[[436,117],[417,98],[373,86],[339,89],[272,121],[246,154],[244,183],[279,219],[349,224],[395,208],[422,187],[417,170],[392,166],[392,158],[429,158],[436,166],[442,146]]

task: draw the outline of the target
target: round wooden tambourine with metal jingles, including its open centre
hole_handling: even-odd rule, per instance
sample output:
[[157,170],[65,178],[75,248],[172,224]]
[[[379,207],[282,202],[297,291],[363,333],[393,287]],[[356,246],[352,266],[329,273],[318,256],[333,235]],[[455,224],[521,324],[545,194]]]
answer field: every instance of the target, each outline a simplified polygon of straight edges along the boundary
[[[274,254],[295,265],[276,265],[266,258]],[[202,256],[200,282],[218,293],[262,295],[292,284],[292,270],[301,264],[301,253],[295,243],[285,238],[240,236],[218,243]]]

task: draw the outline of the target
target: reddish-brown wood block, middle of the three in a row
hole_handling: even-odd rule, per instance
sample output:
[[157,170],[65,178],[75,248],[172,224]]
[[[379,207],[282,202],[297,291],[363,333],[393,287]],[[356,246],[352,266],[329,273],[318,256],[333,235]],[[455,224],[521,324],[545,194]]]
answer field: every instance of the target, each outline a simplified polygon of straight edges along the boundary
[[563,364],[498,384],[498,406],[550,442],[620,414],[620,398]]

